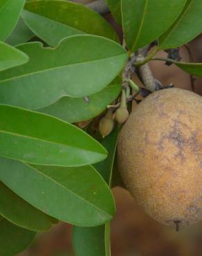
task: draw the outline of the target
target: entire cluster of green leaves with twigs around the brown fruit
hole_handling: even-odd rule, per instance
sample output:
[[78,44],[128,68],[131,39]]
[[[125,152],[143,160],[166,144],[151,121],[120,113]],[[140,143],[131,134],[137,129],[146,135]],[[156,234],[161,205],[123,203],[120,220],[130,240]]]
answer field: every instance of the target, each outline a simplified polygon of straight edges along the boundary
[[[132,90],[140,93],[133,66],[201,33],[202,5],[107,0],[107,6],[123,42],[104,17],[74,1],[0,1],[1,256],[16,255],[58,221],[73,225],[75,255],[110,255],[120,125],[102,139],[98,123],[107,107],[131,110]],[[139,62],[145,48],[154,51]],[[202,77],[202,64],[163,61]]]

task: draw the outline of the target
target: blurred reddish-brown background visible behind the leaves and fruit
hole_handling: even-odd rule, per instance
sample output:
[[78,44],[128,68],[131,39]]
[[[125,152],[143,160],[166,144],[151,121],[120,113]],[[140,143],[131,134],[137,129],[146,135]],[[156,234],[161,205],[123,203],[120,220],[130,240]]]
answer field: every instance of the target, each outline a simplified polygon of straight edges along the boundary
[[[82,3],[88,0],[77,0]],[[116,28],[110,14],[104,17]],[[202,36],[180,49],[185,62],[202,62]],[[166,57],[160,52],[158,57]],[[164,62],[150,62],[154,77],[162,84],[173,83],[182,89],[202,95],[202,78],[190,77],[176,66]],[[134,77],[136,80],[136,77]],[[136,80],[136,82],[138,82]],[[127,190],[113,188],[116,199],[116,217],[111,221],[111,256],[202,256],[202,222],[176,232],[151,219],[141,210]],[[74,256],[71,244],[71,226],[59,223],[49,232],[41,233],[26,252],[17,256]],[[98,256],[98,255],[89,255]]]

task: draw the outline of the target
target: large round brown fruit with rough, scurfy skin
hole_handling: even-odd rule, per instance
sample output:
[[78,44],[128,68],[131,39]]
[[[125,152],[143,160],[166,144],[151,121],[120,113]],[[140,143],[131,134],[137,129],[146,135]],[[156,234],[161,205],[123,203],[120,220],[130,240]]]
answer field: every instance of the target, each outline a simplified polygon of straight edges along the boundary
[[129,192],[160,223],[202,219],[202,97],[183,89],[149,95],[118,138],[118,166]]

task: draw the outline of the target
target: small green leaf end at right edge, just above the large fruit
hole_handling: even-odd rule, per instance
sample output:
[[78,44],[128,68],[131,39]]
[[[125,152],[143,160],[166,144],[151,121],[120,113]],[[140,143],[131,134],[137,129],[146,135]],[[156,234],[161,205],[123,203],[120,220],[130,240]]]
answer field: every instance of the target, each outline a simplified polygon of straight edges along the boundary
[[174,62],[176,66],[181,68],[183,71],[202,77],[202,63],[186,63],[186,62]]

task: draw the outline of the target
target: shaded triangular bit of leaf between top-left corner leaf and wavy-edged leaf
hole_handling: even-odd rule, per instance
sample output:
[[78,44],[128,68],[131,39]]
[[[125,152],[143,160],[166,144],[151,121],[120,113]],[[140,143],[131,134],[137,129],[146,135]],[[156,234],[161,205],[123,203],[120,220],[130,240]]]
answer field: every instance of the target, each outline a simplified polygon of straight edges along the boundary
[[34,36],[33,32],[26,26],[24,21],[19,18],[17,25],[15,26],[12,33],[6,39],[6,43],[12,46],[28,42]]

